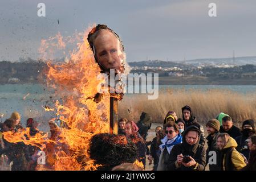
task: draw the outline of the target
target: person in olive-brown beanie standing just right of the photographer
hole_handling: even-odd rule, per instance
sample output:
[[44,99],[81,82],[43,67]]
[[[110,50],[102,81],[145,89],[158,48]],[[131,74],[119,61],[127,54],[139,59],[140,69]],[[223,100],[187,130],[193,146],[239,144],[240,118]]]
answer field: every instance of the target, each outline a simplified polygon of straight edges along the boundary
[[[210,171],[220,171],[220,152],[217,148],[217,135],[220,134],[220,122],[217,119],[210,119],[206,123],[206,130],[208,133],[208,148],[206,150],[206,164],[209,163]],[[214,152],[212,152],[214,151]],[[216,154],[216,158],[214,159],[214,154]],[[211,158],[213,157],[213,158]],[[213,159],[210,160],[209,159]]]

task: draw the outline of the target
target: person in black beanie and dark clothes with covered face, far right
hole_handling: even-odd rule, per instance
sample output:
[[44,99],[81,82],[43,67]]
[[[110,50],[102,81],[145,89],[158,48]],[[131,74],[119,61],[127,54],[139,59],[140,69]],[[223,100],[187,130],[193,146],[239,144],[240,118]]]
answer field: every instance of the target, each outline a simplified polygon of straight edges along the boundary
[[242,125],[242,135],[235,138],[235,141],[237,142],[238,146],[237,151],[242,153],[247,160],[249,160],[249,154],[250,150],[248,147],[248,143],[246,140],[251,136],[255,134],[255,126],[253,119],[247,119],[243,122]]

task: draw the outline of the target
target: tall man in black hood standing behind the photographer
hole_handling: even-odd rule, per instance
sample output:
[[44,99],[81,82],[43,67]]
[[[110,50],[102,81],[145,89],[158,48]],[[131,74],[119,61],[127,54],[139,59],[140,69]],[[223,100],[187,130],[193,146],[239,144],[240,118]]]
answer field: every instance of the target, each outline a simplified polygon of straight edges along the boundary
[[191,126],[191,125],[194,125],[196,127],[198,127],[198,129],[200,129],[200,141],[199,143],[204,146],[205,145],[205,131],[204,131],[204,127],[202,127],[202,125],[200,125],[198,122],[197,122],[197,119],[196,117],[193,115],[192,113],[192,109],[191,107],[189,106],[184,106],[182,107],[182,118],[183,120],[185,121],[185,127],[188,127],[188,126]]

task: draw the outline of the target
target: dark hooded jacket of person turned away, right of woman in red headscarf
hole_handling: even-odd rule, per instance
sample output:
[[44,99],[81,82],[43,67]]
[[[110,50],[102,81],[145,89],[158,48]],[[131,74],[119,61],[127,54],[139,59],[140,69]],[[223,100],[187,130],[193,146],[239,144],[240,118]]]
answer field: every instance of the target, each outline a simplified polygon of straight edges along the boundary
[[151,129],[152,118],[148,113],[141,113],[140,121],[136,123],[139,128],[139,134],[143,137],[144,140],[147,139],[148,130]]

